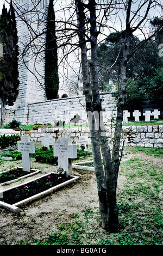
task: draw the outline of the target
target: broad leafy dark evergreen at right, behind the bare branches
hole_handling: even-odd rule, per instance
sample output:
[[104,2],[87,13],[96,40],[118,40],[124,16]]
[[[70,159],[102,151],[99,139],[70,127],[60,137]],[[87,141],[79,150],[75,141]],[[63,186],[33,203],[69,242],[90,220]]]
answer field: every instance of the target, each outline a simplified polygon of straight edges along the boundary
[[[156,34],[156,38],[159,39],[160,36],[161,30]],[[131,35],[130,51],[139,42],[140,39],[137,36]],[[98,64],[101,67],[99,68],[99,81],[102,81],[102,85],[100,84],[102,89],[105,89],[105,84],[112,81],[117,85],[118,90],[123,43],[123,32],[111,33],[98,47]],[[128,61],[124,108],[130,112],[134,109],[141,110],[140,105],[143,105],[145,101],[151,101],[155,107],[162,108],[162,60],[158,52],[158,41],[149,40]]]

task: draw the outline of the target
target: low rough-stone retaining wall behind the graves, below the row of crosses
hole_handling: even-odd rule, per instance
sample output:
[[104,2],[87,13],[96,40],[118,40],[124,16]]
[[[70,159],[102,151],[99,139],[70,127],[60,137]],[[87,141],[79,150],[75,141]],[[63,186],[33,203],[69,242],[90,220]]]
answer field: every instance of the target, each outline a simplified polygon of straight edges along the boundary
[[[31,141],[41,142],[42,137],[49,133],[58,142],[58,138],[75,138],[80,136],[90,137],[89,127],[54,127],[40,128],[37,131],[30,131]],[[110,139],[114,134],[114,128],[106,127],[106,135]],[[148,126],[123,126],[122,138],[126,138],[126,145],[141,147],[163,147],[163,125]]]

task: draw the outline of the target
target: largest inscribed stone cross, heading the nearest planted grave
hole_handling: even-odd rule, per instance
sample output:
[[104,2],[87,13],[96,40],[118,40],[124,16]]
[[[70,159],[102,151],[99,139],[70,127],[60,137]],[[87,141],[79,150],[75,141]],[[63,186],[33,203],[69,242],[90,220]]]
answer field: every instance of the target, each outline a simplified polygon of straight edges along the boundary
[[71,138],[59,138],[53,147],[54,156],[58,156],[58,167],[66,171],[66,176],[72,175],[72,159],[77,158],[77,145],[72,145]]

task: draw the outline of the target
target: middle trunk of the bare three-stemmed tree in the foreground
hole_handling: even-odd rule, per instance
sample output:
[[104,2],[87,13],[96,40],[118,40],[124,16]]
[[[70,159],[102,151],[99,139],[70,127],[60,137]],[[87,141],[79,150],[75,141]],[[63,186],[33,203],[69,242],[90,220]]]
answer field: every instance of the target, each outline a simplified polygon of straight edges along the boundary
[[91,81],[92,81],[92,94],[93,94],[93,107],[98,112],[98,143],[101,146],[102,156],[104,161],[105,173],[105,193],[106,193],[106,207],[107,218],[104,223],[106,230],[115,231],[118,224],[118,211],[116,204],[116,189],[114,183],[114,168],[108,140],[105,134],[105,128],[102,116],[102,103],[99,94],[98,86],[98,71],[97,71],[97,25],[96,25],[96,3],[89,1],[90,4],[90,32],[91,32]]

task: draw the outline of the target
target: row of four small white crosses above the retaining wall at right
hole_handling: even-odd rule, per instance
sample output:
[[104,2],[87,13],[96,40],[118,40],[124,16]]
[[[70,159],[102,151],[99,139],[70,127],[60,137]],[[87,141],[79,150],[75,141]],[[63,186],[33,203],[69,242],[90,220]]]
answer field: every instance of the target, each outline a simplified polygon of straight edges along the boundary
[[[151,115],[154,116],[154,118],[159,119],[160,111],[158,109],[154,109],[154,111],[147,110],[145,113],[145,121],[150,121]],[[139,121],[139,117],[141,116],[141,112],[139,110],[135,110],[133,112],[133,117],[135,118],[135,121]],[[130,113],[127,110],[123,111],[123,121],[124,123],[128,122],[128,117],[130,117]]]

